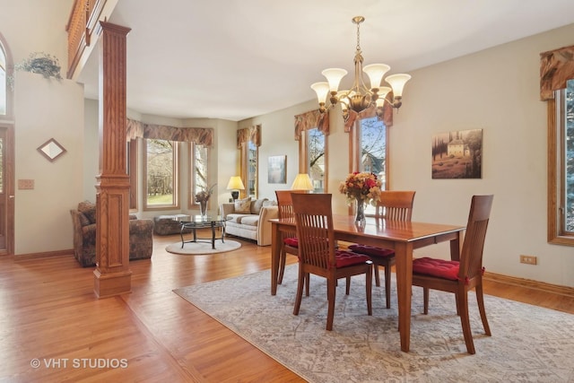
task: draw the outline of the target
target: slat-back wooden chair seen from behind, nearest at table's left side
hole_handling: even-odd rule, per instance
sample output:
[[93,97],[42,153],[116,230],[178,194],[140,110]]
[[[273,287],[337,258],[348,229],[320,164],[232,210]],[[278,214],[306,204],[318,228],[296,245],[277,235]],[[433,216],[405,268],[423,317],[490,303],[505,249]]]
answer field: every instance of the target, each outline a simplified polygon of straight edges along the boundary
[[[299,315],[303,283],[309,274],[326,278],[326,329],[333,329],[335,292],[339,278],[366,275],[367,312],[372,315],[372,262],[369,257],[336,248],[330,194],[293,194],[293,211],[299,239],[299,280],[294,315]],[[309,286],[309,283],[308,283]],[[348,290],[347,290],[348,293]]]

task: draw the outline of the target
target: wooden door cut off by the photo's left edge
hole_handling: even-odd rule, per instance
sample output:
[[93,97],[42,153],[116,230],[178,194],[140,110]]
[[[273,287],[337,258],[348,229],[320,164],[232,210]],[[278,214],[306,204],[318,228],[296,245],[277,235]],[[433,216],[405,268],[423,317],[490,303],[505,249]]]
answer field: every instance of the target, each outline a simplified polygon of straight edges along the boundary
[[0,124],[0,256],[14,252],[13,163],[13,131]]

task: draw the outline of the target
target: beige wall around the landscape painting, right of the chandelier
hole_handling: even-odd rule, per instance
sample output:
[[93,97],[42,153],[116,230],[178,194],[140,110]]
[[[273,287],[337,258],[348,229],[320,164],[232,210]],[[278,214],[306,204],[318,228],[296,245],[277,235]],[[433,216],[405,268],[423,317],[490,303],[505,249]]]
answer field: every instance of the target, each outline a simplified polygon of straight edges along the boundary
[[[546,242],[539,54],[574,44],[572,36],[574,25],[414,72],[390,136],[391,184],[417,191],[413,219],[464,223],[473,194],[494,194],[487,270],[567,286],[574,248]],[[483,178],[431,179],[432,135],[474,128],[483,129]],[[538,265],[520,264],[520,254],[537,256]]]

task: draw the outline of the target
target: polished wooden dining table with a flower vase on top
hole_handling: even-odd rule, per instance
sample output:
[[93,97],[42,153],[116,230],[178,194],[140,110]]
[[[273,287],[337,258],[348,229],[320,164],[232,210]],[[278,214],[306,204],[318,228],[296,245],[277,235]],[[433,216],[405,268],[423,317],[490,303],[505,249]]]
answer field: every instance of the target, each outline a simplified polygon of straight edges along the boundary
[[[271,294],[277,292],[279,258],[283,247],[283,231],[294,231],[293,218],[269,220],[271,240]],[[411,341],[411,292],[413,283],[413,250],[450,241],[450,258],[459,260],[461,237],[465,226],[428,222],[404,222],[386,218],[366,217],[366,222],[355,222],[352,215],[333,214],[335,240],[395,250],[396,290],[401,350],[409,352]]]

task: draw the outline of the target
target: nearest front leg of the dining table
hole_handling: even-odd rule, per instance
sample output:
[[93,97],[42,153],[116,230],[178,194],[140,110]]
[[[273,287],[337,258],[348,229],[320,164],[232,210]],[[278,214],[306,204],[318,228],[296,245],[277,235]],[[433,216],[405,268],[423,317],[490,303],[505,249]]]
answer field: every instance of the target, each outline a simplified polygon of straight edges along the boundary
[[396,291],[398,295],[398,329],[401,350],[408,353],[411,344],[411,297],[413,292],[413,244],[396,243]]

